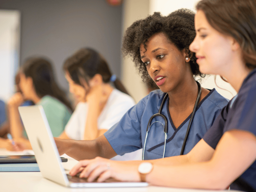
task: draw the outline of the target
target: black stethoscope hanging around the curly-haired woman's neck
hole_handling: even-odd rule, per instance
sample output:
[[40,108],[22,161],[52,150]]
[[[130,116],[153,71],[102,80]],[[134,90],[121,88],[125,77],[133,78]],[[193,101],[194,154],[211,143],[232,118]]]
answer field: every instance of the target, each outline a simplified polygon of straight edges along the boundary
[[[183,141],[183,145],[182,145],[182,148],[181,148],[181,152],[180,152],[180,155],[183,155],[184,153],[184,149],[185,149],[185,145],[186,145],[186,142],[187,142],[187,139],[188,139],[188,133],[189,133],[189,129],[191,127],[191,124],[192,124],[192,121],[193,121],[193,118],[195,116],[195,112],[196,112],[196,107],[197,107],[197,104],[198,104],[198,101],[200,99],[200,96],[201,96],[201,91],[202,91],[202,88],[201,88],[201,85],[199,82],[197,82],[197,86],[198,86],[198,94],[197,94],[197,98],[196,98],[196,103],[195,103],[195,106],[194,106],[194,109],[193,109],[193,112],[191,114],[191,117],[190,117],[190,120],[189,120],[189,123],[188,123],[188,129],[187,129],[187,133],[186,133],[186,136],[185,136],[185,139]],[[163,114],[161,114],[162,112],[162,109],[163,109],[163,106],[164,106],[164,103],[165,103],[165,100],[168,98],[168,93],[165,94],[164,96],[164,99],[161,103],[161,106],[159,108],[159,111],[158,113],[156,113],[155,115],[151,116],[149,121],[148,121],[148,126],[147,126],[147,132],[146,132],[146,137],[145,137],[145,142],[144,142],[144,146],[143,146],[143,151],[142,151],[142,160],[144,160],[144,154],[145,154],[145,147],[146,147],[146,142],[147,142],[147,138],[148,138],[148,132],[149,132],[149,129],[151,127],[152,124],[158,122],[158,123],[161,123],[159,121],[155,121],[151,124],[151,121],[154,117],[156,116],[161,116],[164,118],[164,123],[161,123],[163,126],[164,126],[164,153],[163,153],[163,158],[164,158],[164,155],[165,155],[165,148],[166,148],[166,140],[167,140],[167,118],[166,116],[164,116]]]

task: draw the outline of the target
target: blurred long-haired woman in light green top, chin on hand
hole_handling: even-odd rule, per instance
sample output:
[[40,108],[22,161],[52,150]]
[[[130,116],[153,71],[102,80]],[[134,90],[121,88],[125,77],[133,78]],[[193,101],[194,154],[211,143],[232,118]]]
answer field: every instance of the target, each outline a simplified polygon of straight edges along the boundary
[[20,149],[25,149],[31,146],[18,111],[18,107],[25,100],[42,105],[54,137],[58,137],[63,132],[72,108],[65,92],[54,79],[50,61],[36,57],[27,59],[20,68],[18,78],[20,90],[8,102],[10,132],[14,140],[23,142],[24,146],[20,146]]

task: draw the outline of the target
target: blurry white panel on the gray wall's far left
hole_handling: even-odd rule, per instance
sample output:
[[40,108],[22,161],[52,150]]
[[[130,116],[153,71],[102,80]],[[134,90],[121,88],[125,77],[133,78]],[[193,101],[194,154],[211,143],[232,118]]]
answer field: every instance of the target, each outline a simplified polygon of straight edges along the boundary
[[14,92],[14,77],[20,58],[20,12],[0,10],[0,99]]

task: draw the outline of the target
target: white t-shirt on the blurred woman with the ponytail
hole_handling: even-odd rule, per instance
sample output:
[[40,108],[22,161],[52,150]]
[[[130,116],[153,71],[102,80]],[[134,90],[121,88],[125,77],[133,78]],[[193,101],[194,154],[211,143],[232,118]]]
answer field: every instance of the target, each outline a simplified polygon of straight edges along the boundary
[[[124,114],[135,105],[134,100],[129,95],[114,89],[98,118],[99,129],[110,129],[120,121]],[[79,102],[75,111],[70,117],[65,127],[65,132],[70,139],[83,140],[84,128],[88,112],[87,103]],[[126,153],[122,156],[115,156],[112,160],[141,160],[142,150]]]

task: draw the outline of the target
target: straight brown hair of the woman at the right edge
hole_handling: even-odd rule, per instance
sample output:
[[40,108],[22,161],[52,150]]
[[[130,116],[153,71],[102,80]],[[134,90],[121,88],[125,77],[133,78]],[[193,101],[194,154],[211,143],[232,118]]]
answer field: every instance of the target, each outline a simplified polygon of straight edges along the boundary
[[232,36],[240,44],[246,66],[256,68],[255,0],[202,0],[196,9],[204,12],[214,29]]

